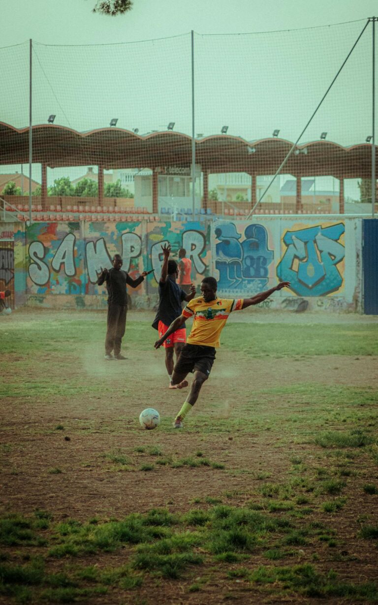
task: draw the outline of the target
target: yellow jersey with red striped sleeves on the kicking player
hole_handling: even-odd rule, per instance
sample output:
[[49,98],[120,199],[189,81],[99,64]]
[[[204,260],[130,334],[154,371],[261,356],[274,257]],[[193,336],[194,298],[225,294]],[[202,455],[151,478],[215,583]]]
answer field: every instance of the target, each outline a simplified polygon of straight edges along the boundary
[[216,298],[213,301],[204,302],[202,296],[189,301],[183,310],[183,316],[194,319],[187,343],[219,347],[220,333],[226,325],[230,313],[240,310],[243,302],[243,298]]

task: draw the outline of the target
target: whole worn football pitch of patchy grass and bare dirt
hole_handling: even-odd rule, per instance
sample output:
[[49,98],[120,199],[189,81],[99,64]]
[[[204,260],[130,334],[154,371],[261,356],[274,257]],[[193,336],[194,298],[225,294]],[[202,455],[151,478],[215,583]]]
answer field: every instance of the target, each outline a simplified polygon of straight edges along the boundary
[[377,602],[378,320],[325,317],[235,313],[177,431],[153,313],[110,363],[104,312],[0,316],[0,603]]

